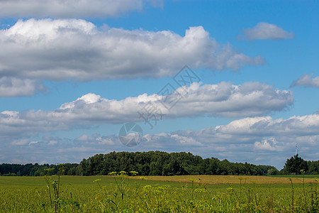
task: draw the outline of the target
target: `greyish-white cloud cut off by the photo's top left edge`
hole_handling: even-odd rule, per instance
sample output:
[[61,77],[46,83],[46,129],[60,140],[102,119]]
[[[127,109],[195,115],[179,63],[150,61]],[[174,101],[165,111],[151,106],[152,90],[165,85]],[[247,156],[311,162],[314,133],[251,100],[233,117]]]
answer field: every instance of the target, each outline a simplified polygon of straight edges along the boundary
[[162,0],[2,0],[0,17],[110,17],[141,11],[145,4],[161,6]]

